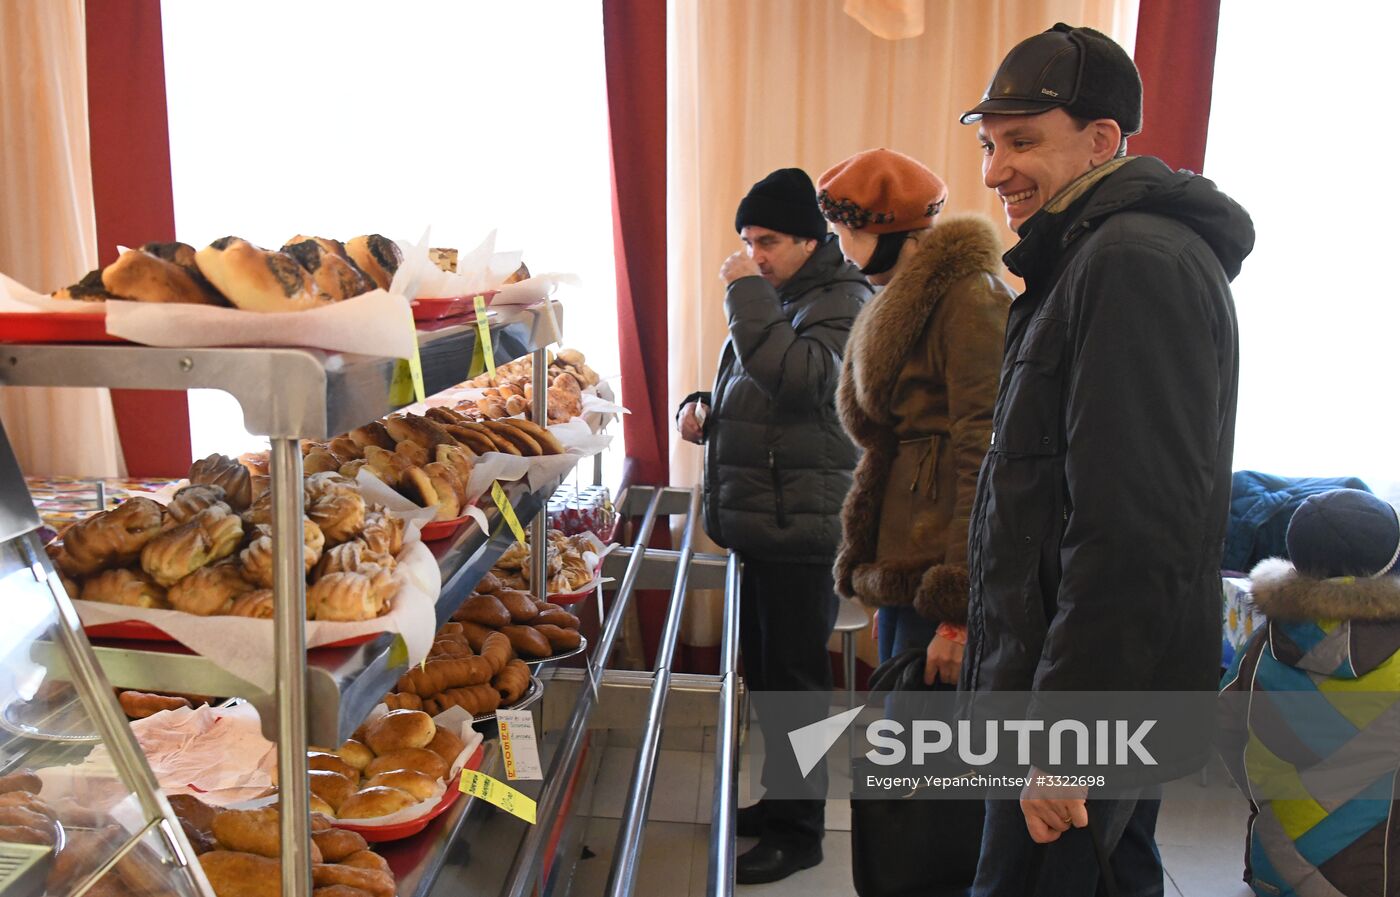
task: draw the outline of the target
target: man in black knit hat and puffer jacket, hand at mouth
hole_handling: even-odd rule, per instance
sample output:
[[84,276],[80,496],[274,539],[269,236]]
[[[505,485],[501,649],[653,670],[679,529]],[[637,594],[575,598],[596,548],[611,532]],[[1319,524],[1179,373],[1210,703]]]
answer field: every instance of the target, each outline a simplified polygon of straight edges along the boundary
[[[836,416],[836,383],[871,287],[826,232],[812,179],[798,168],[753,185],[734,227],[745,249],[720,269],[729,339],[714,389],[687,396],[676,427],[706,449],[706,532],[743,558],[746,684],[812,693],[798,716],[816,722],[832,691],[832,567],[855,467],[855,446]],[[763,726],[763,785],[778,799],[739,812],[739,834],[759,837],[738,858],[741,884],[822,861],[826,764],[804,781],[788,749],[791,728]]]

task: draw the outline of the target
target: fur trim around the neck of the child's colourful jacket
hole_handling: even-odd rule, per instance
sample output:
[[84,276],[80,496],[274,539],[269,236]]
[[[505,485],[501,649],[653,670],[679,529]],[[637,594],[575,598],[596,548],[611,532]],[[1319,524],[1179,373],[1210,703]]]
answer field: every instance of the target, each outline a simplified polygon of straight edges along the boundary
[[1271,557],[1249,578],[1254,606],[1271,620],[1400,620],[1400,577],[1313,579]]

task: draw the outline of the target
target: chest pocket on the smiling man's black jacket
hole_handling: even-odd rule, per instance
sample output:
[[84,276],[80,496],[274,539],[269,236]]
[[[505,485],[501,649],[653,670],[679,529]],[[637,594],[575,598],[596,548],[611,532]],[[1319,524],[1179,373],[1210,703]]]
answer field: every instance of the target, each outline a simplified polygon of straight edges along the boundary
[[1026,329],[1007,375],[993,452],[1036,456],[1063,451],[1065,329],[1065,322],[1054,318],[1037,318]]

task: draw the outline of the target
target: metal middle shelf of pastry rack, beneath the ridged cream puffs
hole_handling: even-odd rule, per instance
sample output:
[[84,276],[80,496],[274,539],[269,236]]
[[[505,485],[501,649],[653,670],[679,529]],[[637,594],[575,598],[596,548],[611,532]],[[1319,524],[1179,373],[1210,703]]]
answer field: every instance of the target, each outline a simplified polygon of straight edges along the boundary
[[[559,481],[552,480],[535,493],[525,491],[524,486],[510,488],[517,516],[531,521],[557,487]],[[438,626],[447,623],[515,540],[494,505],[486,509],[486,516],[490,533],[469,523],[451,540],[428,543],[442,575],[437,600]],[[311,744],[340,744],[385,693],[393,690],[393,683],[407,670],[406,661],[391,661],[391,655],[396,654],[393,644],[395,635],[384,634],[351,648],[315,648],[308,652],[307,737]],[[203,656],[189,654],[179,645],[101,638],[92,640],[92,651],[108,681],[119,688],[246,698],[258,708],[263,733],[277,740],[277,695],[224,672]],[[35,659],[62,669],[62,656],[53,645],[36,645]]]

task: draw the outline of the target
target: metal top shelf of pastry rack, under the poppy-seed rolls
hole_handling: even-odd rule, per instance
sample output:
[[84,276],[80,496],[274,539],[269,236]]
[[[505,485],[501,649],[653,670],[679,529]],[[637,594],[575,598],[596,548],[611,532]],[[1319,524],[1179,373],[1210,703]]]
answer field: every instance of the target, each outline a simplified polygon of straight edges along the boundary
[[[543,305],[493,309],[491,347],[505,362],[556,340]],[[469,379],[476,323],[419,330],[424,393]],[[151,346],[7,344],[0,333],[3,386],[221,389],[244,409],[249,432],[328,439],[413,402],[407,364],[398,358],[315,348],[157,348]]]

